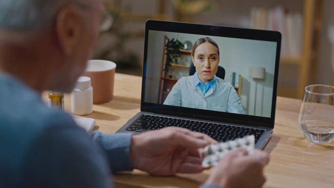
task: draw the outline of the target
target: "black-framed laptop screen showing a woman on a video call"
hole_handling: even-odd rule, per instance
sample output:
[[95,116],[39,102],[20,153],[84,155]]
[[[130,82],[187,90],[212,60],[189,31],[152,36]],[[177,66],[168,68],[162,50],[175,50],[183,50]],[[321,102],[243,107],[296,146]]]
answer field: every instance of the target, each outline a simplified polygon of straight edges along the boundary
[[221,117],[274,116],[277,32],[149,22],[142,103]]

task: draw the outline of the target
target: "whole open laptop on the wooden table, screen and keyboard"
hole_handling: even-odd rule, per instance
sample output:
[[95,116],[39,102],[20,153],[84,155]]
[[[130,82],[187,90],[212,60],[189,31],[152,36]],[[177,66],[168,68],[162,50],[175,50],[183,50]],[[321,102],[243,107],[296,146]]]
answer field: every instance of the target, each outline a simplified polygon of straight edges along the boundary
[[[214,82],[204,89],[196,84],[205,76],[194,68],[191,51],[203,38],[218,46],[208,61],[219,58]],[[219,142],[253,134],[255,147],[263,148],[274,127],[280,49],[275,31],[146,21],[141,112],[117,132],[178,126]]]

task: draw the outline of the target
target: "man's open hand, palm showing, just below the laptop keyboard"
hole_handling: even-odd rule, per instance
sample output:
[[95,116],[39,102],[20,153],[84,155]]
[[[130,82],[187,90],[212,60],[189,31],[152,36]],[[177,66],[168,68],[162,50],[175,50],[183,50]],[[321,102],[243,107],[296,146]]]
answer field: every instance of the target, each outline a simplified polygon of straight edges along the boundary
[[177,172],[196,173],[204,168],[199,148],[217,144],[206,134],[180,127],[167,127],[132,136],[130,155],[133,168],[151,175]]

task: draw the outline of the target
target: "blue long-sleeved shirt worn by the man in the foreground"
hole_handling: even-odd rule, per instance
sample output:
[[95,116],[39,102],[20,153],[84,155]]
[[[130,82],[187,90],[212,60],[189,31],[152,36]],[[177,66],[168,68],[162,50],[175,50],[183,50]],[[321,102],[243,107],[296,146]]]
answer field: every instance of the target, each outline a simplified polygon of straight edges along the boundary
[[132,134],[88,135],[10,75],[0,88],[0,188],[113,188],[111,172],[132,170]]

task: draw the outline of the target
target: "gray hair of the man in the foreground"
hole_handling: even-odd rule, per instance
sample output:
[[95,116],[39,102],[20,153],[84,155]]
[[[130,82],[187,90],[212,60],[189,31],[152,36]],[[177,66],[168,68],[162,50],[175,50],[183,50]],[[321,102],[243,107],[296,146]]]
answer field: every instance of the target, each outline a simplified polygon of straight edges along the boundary
[[51,23],[58,9],[87,0],[0,0],[0,30],[35,30]]

